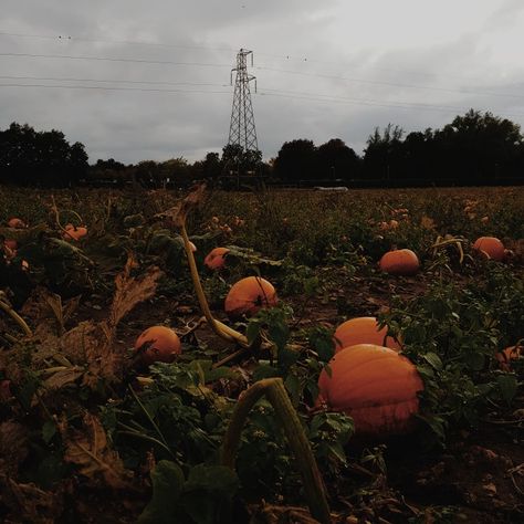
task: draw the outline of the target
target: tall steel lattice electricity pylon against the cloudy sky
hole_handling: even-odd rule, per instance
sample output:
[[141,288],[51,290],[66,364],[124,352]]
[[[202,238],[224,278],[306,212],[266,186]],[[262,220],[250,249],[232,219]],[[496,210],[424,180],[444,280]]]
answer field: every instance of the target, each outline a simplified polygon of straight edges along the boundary
[[251,92],[249,83],[254,80],[254,92],[256,93],[256,77],[248,74],[248,56],[251,55],[253,65],[253,52],[241,49],[237,53],[237,67],[231,70],[231,85],[233,84],[233,71],[237,72],[234,80],[233,108],[231,111],[231,124],[229,126],[228,145],[239,145],[244,151],[258,150],[256,129],[254,128],[253,106],[251,105]]

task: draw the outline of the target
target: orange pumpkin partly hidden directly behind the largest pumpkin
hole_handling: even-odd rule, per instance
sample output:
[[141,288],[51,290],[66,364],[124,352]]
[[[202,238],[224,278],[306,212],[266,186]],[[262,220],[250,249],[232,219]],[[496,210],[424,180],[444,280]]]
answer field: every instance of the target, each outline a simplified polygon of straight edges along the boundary
[[357,344],[376,344],[399,352],[401,349],[400,344],[387,334],[388,328],[385,326],[380,329],[374,316],[350,318],[340,324],[335,331],[335,352]]

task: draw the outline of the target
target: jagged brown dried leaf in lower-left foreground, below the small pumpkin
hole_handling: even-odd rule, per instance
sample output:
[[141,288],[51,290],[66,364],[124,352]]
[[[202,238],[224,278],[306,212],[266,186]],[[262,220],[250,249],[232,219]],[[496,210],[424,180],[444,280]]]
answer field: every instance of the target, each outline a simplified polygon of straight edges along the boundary
[[86,413],[83,431],[64,430],[65,453],[64,460],[78,468],[84,476],[93,481],[103,479],[114,489],[129,488],[132,473],[124,468],[116,451],[107,448],[107,437],[99,420]]

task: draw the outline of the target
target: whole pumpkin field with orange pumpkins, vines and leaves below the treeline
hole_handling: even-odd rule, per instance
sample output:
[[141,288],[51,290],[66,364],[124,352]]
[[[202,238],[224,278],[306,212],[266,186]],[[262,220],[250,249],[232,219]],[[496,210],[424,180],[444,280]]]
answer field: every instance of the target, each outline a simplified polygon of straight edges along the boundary
[[0,521],[524,522],[524,188],[0,187]]

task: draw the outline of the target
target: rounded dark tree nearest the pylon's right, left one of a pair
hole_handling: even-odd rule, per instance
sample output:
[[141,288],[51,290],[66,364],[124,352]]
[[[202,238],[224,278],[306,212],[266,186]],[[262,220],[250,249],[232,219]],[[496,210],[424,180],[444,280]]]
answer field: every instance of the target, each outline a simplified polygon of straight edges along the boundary
[[274,160],[274,175],[283,180],[319,178],[316,153],[313,140],[301,138],[284,143]]

